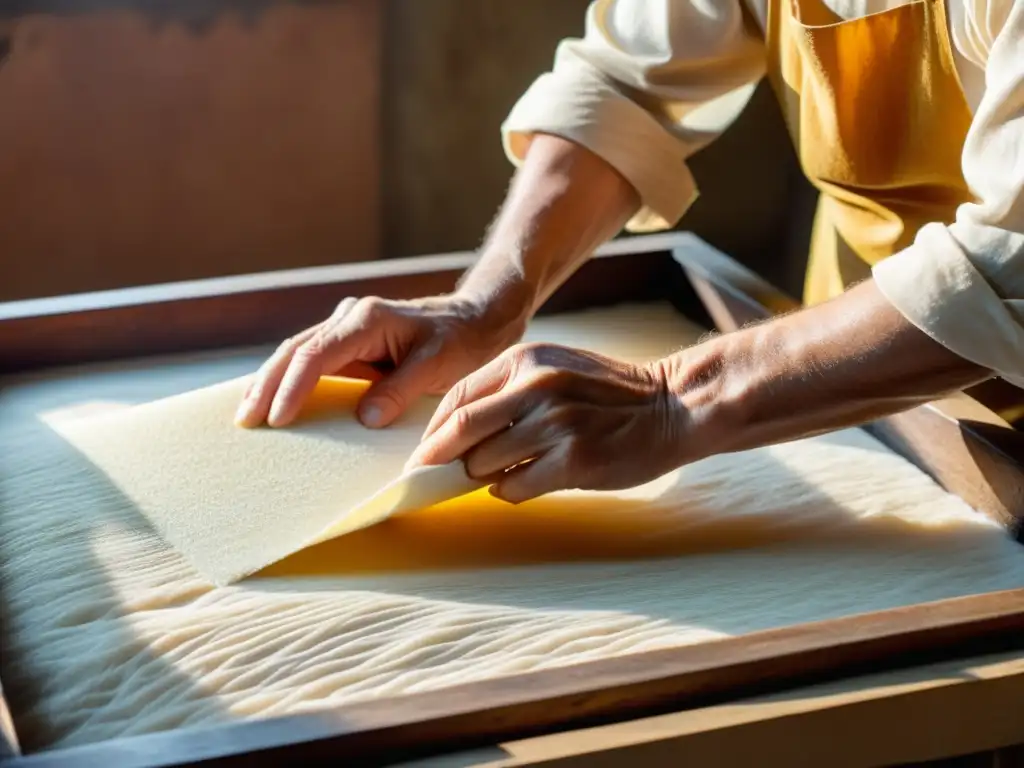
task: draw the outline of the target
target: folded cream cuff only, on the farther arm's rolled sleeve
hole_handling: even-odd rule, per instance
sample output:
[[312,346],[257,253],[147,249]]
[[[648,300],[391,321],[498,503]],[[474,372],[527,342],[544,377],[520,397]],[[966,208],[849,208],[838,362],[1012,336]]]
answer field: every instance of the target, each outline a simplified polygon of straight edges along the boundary
[[680,142],[649,112],[583,68],[542,76],[512,108],[502,141],[516,166],[536,133],[587,147],[633,185],[641,208],[626,225],[630,231],[675,226],[697,197]]

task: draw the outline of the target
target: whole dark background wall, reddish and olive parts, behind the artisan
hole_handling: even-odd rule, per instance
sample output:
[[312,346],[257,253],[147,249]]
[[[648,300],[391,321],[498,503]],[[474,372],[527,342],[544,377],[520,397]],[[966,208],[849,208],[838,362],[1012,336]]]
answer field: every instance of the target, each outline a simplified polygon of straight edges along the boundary
[[[7,0],[0,300],[475,247],[499,127],[588,0]],[[758,91],[682,226],[799,288]]]

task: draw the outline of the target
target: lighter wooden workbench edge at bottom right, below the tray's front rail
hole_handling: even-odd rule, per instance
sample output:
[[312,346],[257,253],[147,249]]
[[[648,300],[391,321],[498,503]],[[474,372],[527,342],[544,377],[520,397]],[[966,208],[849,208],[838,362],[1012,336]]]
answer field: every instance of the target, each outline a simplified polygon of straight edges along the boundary
[[585,768],[595,756],[602,764],[645,768],[920,765],[1024,744],[1022,700],[1024,651],[1015,650],[504,741],[451,757],[460,768]]

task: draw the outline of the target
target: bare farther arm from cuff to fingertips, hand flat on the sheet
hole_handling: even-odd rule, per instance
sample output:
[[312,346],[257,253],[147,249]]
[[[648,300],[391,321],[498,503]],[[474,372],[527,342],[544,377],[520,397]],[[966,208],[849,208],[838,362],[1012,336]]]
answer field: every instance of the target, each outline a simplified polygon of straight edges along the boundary
[[605,161],[538,136],[516,174],[477,264],[456,294],[418,301],[346,299],[289,339],[260,369],[238,422],[284,426],[324,375],[392,364],[359,408],[367,426],[394,421],[421,394],[443,394],[519,340],[534,311],[638,206]]

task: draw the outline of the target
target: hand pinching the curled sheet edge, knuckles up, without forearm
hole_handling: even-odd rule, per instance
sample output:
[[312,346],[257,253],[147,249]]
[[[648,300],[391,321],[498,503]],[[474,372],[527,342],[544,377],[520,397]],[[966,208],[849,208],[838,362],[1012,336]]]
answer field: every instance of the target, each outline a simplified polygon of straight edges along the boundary
[[633,487],[682,463],[687,422],[659,364],[519,344],[453,387],[409,466],[462,458],[511,503]]

